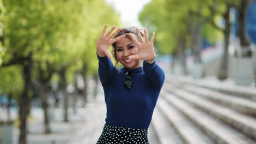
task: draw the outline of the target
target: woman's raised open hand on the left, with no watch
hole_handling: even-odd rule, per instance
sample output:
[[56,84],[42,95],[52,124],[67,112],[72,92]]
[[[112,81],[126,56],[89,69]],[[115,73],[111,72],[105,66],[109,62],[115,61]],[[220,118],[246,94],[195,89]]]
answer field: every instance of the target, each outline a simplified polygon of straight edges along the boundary
[[[115,26],[113,26],[109,31],[108,33],[105,35],[105,32],[106,32],[106,29],[108,27],[108,24],[106,24],[103,28],[103,31],[100,35],[100,37],[98,38],[97,40],[97,43],[96,43],[96,46],[97,46],[97,55],[100,56],[100,57],[104,57],[104,56],[108,56],[108,58],[111,58],[111,55],[108,51],[108,47],[110,45],[112,45],[113,43],[117,42],[118,40],[120,39],[123,39],[125,37],[125,34],[124,35],[121,35],[117,38],[114,38],[115,35],[117,35],[120,31],[121,31],[121,28],[118,28],[117,31],[115,31],[114,33],[112,33],[115,29]],[[111,34],[112,33],[112,34]],[[111,35],[110,35],[111,34]],[[110,35],[110,36],[109,36]],[[114,39],[112,39],[114,38]]]

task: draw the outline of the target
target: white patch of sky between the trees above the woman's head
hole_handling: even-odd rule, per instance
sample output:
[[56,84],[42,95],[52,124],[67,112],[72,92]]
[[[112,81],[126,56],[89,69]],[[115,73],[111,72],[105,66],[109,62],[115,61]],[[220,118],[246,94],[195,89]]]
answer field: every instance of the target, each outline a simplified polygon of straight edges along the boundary
[[105,0],[107,4],[121,14],[122,26],[141,26],[138,21],[138,14],[143,10],[145,4],[152,0]]

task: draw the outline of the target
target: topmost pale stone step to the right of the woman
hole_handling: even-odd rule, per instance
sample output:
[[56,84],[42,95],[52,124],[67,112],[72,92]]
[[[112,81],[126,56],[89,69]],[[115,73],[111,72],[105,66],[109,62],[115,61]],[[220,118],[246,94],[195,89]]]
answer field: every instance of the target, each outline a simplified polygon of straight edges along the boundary
[[256,101],[256,89],[250,87],[242,87],[236,85],[227,85],[226,83],[222,82],[213,82],[209,80],[195,80],[191,79],[190,77],[184,76],[173,76],[173,75],[166,75],[165,83],[172,83],[172,82],[182,82],[187,83],[189,85],[199,86],[203,88],[212,89],[214,91],[222,92],[225,94],[236,95],[238,97],[248,98],[251,100]]

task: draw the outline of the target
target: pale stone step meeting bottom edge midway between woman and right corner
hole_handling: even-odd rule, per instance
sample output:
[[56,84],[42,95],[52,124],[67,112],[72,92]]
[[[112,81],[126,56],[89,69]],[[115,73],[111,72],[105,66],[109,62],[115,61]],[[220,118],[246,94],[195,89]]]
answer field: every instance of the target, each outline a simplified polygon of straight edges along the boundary
[[202,131],[195,127],[181,112],[169,105],[166,100],[160,98],[158,100],[159,109],[166,115],[168,121],[171,122],[177,133],[182,137],[185,143],[191,144],[211,144],[214,143]]

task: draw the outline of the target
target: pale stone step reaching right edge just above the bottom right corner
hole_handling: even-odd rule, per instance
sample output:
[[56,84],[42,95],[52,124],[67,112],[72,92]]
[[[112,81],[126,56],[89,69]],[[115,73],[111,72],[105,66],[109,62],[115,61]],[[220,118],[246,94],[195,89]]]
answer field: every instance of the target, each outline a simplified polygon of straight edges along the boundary
[[167,92],[171,92],[179,98],[189,101],[199,109],[210,113],[214,117],[242,131],[244,134],[256,139],[256,120],[254,118],[247,117],[224,106],[214,104],[211,101],[202,99],[196,94],[188,93],[181,89],[168,88]]

